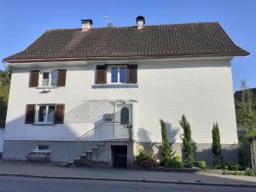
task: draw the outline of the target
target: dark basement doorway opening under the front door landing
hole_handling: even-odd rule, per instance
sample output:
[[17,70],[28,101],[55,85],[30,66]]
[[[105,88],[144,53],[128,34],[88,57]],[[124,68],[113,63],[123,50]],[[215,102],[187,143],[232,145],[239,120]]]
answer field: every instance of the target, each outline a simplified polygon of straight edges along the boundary
[[127,146],[111,146],[113,166],[127,166]]

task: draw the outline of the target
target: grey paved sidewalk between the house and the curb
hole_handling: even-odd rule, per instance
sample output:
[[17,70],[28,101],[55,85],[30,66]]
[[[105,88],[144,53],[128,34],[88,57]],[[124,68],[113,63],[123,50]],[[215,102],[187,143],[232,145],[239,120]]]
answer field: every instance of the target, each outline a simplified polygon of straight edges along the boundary
[[224,176],[205,173],[151,172],[128,169],[62,167],[55,164],[0,161],[0,176],[63,177],[70,179],[122,180],[153,183],[191,183],[209,185],[247,185],[256,187],[256,177]]

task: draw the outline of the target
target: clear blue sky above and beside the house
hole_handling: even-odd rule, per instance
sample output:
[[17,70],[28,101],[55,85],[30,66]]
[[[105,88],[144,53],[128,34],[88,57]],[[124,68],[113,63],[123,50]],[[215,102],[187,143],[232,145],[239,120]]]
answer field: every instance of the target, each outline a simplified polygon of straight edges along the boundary
[[240,89],[241,79],[256,87],[254,0],[1,0],[0,8],[1,61],[47,29],[79,28],[81,19],[94,20],[94,27],[107,25],[105,15],[111,16],[113,26],[135,26],[137,15],[145,16],[146,25],[218,21],[237,45],[251,53],[232,61],[234,90]]

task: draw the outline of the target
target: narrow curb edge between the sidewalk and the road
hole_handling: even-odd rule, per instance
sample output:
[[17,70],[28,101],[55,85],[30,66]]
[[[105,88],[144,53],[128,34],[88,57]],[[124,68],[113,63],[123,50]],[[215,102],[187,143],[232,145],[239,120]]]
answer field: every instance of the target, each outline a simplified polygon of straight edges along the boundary
[[45,176],[32,175],[22,173],[0,172],[0,176],[7,177],[38,177],[38,178],[57,178],[57,179],[79,179],[92,181],[119,181],[119,182],[139,182],[139,183],[169,183],[169,184],[188,184],[188,185],[208,185],[208,186],[224,186],[224,187],[246,187],[256,188],[256,184],[245,183],[204,183],[204,182],[189,182],[189,181],[173,181],[173,180],[157,180],[157,179],[134,179],[134,178],[110,178],[110,177],[77,177],[77,176]]

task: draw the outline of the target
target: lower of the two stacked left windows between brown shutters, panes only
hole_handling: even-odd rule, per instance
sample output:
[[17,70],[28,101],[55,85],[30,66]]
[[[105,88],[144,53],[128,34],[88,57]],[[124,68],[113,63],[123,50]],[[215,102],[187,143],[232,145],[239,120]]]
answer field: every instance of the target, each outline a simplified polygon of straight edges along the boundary
[[54,123],[55,105],[38,106],[38,123]]

